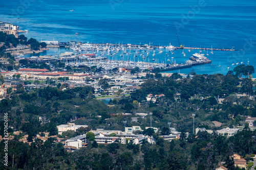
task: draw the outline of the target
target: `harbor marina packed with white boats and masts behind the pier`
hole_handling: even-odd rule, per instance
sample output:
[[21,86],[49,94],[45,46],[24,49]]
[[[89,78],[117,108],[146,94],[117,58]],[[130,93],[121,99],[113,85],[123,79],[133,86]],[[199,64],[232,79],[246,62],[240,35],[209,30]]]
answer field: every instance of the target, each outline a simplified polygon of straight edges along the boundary
[[[70,51],[55,55],[32,56],[30,63],[63,62],[71,66],[97,66],[105,70],[120,67],[139,67],[140,69],[160,68],[161,71],[189,68],[195,65],[211,63],[203,54],[195,53],[184,63],[177,63],[173,57],[177,47],[132,45],[132,44],[92,44],[70,43]],[[165,52],[164,52],[165,51]],[[182,52],[185,57],[184,50]],[[160,62],[159,59],[161,58]],[[164,58],[164,60],[162,60]],[[185,59],[185,58],[184,58]]]

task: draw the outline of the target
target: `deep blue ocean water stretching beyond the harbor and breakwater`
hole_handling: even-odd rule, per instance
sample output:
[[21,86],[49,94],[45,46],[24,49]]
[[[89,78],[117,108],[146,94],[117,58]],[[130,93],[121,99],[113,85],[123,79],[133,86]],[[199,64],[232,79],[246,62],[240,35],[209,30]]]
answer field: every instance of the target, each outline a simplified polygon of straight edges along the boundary
[[[236,63],[256,63],[255,9],[254,0],[13,0],[0,2],[0,20],[29,30],[25,34],[28,38],[60,42],[179,45],[178,34],[185,46],[236,49],[235,52],[215,51],[208,56],[211,64],[193,67],[197,74],[226,74],[228,66],[232,69]],[[55,51],[60,50],[52,49],[44,54]],[[184,52],[186,57],[181,50],[172,57],[184,63],[198,51]],[[166,60],[164,56],[165,52],[156,55],[159,62]],[[152,56],[149,58],[152,61]],[[179,71],[188,73],[191,69]]]

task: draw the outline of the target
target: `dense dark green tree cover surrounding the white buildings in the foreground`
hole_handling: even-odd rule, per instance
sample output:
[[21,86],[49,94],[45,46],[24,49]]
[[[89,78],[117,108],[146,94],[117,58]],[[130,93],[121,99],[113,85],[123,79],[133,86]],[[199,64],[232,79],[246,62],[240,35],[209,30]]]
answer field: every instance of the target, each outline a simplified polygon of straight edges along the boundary
[[[144,81],[141,89],[130,96],[111,100],[109,105],[95,99],[91,86],[69,89],[62,84],[26,92],[19,85],[16,91],[10,93],[10,99],[0,102],[0,113],[1,118],[3,113],[8,113],[8,131],[11,134],[13,131],[24,133],[9,140],[8,167],[3,162],[0,166],[6,169],[215,169],[218,162],[224,161],[228,169],[239,169],[234,167],[230,155],[237,153],[251,160],[251,154],[256,153],[256,131],[248,128],[244,117],[256,117],[256,102],[251,100],[251,96],[255,95],[255,82],[248,76],[249,71],[254,72],[254,68],[242,65],[227,75],[193,74],[183,79],[179,79],[178,74],[154,78],[158,74],[156,72],[153,78],[148,76],[149,80]],[[165,96],[158,98],[156,103],[147,102],[146,96],[150,93],[163,93]],[[248,96],[238,98],[236,93]],[[30,140],[40,132],[55,135],[57,125],[67,124],[74,117],[76,125],[88,125],[89,128],[68,131],[59,137],[68,139],[97,128],[124,131],[123,120],[127,121],[126,127],[140,126],[145,129],[150,126],[150,116],[132,122],[132,116],[116,113],[133,113],[135,116],[135,113],[148,112],[153,113],[152,126],[160,129],[160,132],[153,134],[155,144],[145,141],[142,145],[118,142],[97,145],[91,141],[88,147],[68,153],[62,143],[53,142],[54,138],[45,143],[36,139],[30,145],[18,141],[25,134]],[[225,127],[245,127],[232,137],[207,132],[199,132],[195,136],[193,113],[196,114],[195,127],[214,131]],[[222,127],[215,127],[214,120],[221,122]],[[160,137],[166,133],[168,122],[182,132],[180,138],[172,142]],[[187,138],[185,132],[190,133]],[[3,121],[0,135],[4,135]],[[4,147],[2,141],[1,157]]]

